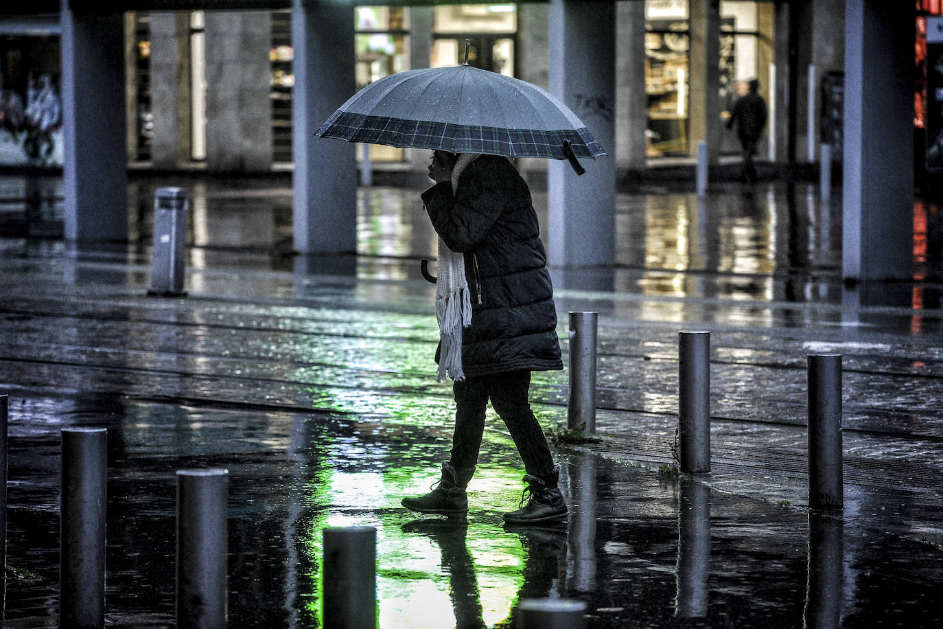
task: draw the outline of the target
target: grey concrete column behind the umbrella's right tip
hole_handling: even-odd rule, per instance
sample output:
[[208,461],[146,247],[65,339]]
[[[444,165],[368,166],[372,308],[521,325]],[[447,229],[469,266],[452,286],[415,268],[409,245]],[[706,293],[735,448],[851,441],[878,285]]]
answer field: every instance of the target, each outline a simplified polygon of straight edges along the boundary
[[551,0],[550,91],[603,145],[606,157],[583,159],[577,177],[566,161],[549,166],[550,265],[577,268],[615,262],[615,3]]

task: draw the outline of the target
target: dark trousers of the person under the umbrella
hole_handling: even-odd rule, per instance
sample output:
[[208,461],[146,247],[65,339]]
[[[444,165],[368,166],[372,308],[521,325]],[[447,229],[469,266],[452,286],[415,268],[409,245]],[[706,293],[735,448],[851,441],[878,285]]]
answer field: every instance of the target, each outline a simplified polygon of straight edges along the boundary
[[530,376],[525,370],[455,381],[452,387],[455,394],[452,467],[461,470],[478,462],[485,433],[485,411],[490,400],[521,453],[524,470],[539,477],[553,471],[554,457],[528,401]]

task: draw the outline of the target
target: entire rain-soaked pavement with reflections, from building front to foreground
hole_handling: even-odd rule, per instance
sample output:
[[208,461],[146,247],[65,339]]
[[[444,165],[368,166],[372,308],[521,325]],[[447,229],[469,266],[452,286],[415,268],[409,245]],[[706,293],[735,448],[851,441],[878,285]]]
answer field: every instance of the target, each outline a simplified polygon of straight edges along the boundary
[[[619,265],[555,273],[565,354],[566,313],[600,313],[602,440],[556,452],[561,530],[502,525],[522,470],[494,416],[466,521],[399,505],[436,479],[451,439],[418,190],[361,189],[360,255],[305,258],[290,255],[290,183],[194,178],[189,295],[154,298],[149,208],[168,183],[132,181],[130,246],[76,251],[46,236],[55,177],[29,184],[44,201],[28,221],[36,194],[0,177],[4,626],[56,625],[58,439],[72,425],[108,428],[115,626],[173,624],[174,472],[191,467],[230,474],[231,626],[320,626],[321,531],[348,524],[377,528],[385,628],[510,627],[543,596],[585,601],[591,627],[943,623],[934,203],[915,204],[918,279],[848,289],[835,195],[823,205],[781,181],[700,202],[683,187],[620,192]],[[670,469],[682,329],[711,331],[712,472],[694,478]],[[831,514],[806,508],[815,353],[844,356],[845,509]],[[567,372],[534,378],[551,432],[568,389]]]

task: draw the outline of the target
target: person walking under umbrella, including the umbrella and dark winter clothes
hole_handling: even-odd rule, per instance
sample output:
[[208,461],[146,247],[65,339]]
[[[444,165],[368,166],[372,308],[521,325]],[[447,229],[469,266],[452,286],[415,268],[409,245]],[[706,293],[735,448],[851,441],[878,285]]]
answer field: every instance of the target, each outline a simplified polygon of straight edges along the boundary
[[435,184],[422,202],[439,237],[438,277],[431,279],[436,358],[438,380],[454,380],[455,432],[438,483],[403,505],[447,516],[468,512],[466,488],[490,403],[526,472],[520,508],[505,521],[565,520],[560,466],[529,403],[531,373],[563,369],[554,290],[530,190],[510,157],[568,159],[583,174],[577,157],[604,156],[602,146],[549,92],[469,66],[468,41],[464,64],[381,78],[316,135],[434,151]]

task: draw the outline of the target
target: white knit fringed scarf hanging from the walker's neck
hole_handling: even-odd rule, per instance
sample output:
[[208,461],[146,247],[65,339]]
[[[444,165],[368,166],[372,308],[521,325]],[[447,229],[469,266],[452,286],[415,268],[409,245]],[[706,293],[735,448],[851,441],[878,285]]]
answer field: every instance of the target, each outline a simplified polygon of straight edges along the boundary
[[[472,163],[477,153],[458,156],[452,168],[452,193],[458,188],[458,177]],[[472,324],[472,295],[465,279],[465,256],[451,251],[438,239],[436,270],[436,319],[441,350],[438,355],[438,380],[446,376],[464,380],[462,370],[462,328]]]

